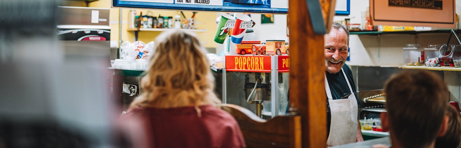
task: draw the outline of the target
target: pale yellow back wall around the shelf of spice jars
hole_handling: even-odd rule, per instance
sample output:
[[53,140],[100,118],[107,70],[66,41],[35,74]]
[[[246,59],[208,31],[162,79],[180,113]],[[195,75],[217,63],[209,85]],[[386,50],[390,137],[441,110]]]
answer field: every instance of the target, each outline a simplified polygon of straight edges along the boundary
[[[68,2],[67,6],[85,6],[84,2]],[[110,8],[111,0],[98,0],[95,2],[89,3],[89,7],[98,7],[98,8]],[[122,41],[133,42],[135,39],[135,34],[133,31],[126,31],[128,28],[128,12],[132,9],[122,9]],[[136,14],[139,14],[142,11],[143,15],[148,14],[148,11],[151,11],[153,16],[174,16],[179,14],[179,11],[164,11],[164,10],[145,10],[137,9]],[[191,17],[192,12],[183,11],[186,17]],[[118,42],[118,20],[119,19],[119,8],[110,8],[110,26],[111,26],[111,40]],[[216,32],[216,13],[215,12],[198,12],[195,14],[195,27],[197,29],[207,29],[206,32],[196,32],[200,40],[205,47],[216,48],[216,43],[213,41],[214,33]],[[140,31],[138,35],[138,40],[141,40],[144,43],[154,41],[155,37],[159,35],[160,32],[156,31]]]

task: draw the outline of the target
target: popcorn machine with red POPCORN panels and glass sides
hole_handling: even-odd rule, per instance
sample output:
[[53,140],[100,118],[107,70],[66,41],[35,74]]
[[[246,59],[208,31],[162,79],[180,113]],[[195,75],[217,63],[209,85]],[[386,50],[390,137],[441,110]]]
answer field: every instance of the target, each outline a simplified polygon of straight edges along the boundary
[[223,103],[248,108],[264,119],[285,114],[289,56],[228,55],[223,65]]

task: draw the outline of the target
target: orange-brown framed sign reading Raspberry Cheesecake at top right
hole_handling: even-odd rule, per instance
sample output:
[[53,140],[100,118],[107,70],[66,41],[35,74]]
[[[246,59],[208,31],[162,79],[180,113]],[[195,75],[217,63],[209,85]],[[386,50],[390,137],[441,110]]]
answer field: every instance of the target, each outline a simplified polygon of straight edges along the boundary
[[455,28],[455,0],[370,0],[373,25]]

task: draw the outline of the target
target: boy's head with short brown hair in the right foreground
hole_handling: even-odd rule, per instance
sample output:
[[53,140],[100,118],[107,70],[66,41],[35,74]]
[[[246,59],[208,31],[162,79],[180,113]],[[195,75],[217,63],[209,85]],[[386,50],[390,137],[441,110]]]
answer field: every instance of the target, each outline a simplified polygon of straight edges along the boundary
[[446,130],[447,85],[428,70],[406,70],[393,75],[384,85],[387,113],[383,128],[390,131],[392,144],[404,148],[431,146]]

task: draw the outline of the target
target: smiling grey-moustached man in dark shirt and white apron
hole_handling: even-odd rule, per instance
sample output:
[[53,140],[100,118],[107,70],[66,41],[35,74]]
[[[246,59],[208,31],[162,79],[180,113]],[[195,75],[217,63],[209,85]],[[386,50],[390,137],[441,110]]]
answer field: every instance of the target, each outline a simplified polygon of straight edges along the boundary
[[358,123],[359,100],[352,71],[345,63],[349,48],[349,30],[333,23],[325,34],[325,91],[327,95],[327,145],[336,146],[363,141]]

